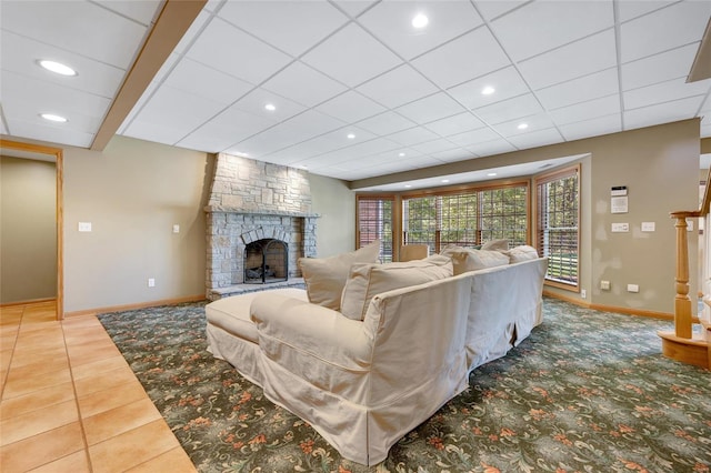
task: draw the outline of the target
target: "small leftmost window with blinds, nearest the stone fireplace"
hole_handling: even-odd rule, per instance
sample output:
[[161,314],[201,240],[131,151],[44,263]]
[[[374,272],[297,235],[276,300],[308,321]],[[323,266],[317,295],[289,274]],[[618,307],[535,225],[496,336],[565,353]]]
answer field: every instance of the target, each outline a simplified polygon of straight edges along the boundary
[[383,263],[392,261],[393,207],[394,197],[358,197],[358,248],[380,239],[380,258]]

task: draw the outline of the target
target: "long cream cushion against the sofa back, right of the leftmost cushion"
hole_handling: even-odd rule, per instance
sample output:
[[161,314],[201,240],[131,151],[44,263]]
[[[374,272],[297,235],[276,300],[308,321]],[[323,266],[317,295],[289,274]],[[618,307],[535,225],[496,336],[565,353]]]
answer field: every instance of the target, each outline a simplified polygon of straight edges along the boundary
[[439,254],[399,263],[356,263],[343,288],[341,313],[349,319],[363,320],[373,296],[393,289],[449,278],[452,273],[452,261]]

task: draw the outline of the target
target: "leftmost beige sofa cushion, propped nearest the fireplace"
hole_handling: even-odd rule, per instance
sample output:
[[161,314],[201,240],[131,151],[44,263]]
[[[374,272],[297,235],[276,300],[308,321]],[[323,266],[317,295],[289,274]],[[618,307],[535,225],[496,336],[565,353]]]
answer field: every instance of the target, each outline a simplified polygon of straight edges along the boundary
[[375,263],[380,256],[380,240],[349,253],[330,258],[300,258],[309,302],[339,310],[341,293],[353,263]]

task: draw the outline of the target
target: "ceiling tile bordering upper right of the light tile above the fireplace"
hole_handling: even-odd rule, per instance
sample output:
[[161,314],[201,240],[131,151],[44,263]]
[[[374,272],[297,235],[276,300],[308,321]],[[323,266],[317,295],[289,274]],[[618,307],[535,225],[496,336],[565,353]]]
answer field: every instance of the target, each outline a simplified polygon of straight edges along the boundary
[[[309,87],[294,87],[308,84]],[[347,90],[347,87],[323,76],[302,62],[292,62],[262,85],[263,89],[289,97],[306,107],[313,107]]]

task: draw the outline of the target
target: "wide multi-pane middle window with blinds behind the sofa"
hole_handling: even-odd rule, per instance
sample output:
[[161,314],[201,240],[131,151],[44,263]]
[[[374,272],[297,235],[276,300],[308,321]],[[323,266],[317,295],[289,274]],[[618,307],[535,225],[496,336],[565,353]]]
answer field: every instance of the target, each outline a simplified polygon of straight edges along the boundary
[[402,242],[424,243],[430,252],[448,244],[475,246],[507,239],[528,242],[528,183],[457,193],[403,198]]

